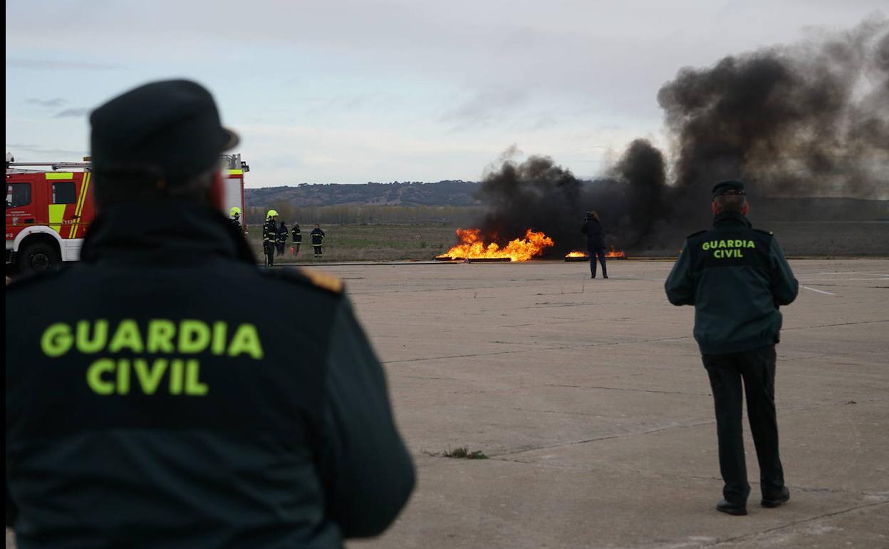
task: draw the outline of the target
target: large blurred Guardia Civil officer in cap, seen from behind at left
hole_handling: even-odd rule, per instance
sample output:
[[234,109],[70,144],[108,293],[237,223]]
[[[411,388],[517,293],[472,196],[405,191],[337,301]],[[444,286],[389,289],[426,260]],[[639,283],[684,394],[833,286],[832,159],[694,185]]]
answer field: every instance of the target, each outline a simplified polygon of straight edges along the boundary
[[211,207],[236,138],[210,94],[150,84],[91,122],[100,215],[83,261],[6,290],[19,548],[379,534],[414,480],[380,362],[338,279],[258,269]]

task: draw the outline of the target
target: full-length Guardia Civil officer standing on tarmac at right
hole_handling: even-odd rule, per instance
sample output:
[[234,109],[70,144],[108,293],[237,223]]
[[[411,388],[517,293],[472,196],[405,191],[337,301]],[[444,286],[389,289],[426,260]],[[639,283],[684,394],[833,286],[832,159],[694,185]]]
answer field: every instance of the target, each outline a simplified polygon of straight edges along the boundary
[[694,338],[716,405],[719,470],[725,487],[717,510],[747,514],[750,486],[741,427],[747,393],[764,507],[790,498],[778,454],[775,343],[780,305],[797,297],[797,279],[771,232],[751,228],[741,182],[713,188],[713,229],[689,235],[666,283],[674,305],[694,305]]

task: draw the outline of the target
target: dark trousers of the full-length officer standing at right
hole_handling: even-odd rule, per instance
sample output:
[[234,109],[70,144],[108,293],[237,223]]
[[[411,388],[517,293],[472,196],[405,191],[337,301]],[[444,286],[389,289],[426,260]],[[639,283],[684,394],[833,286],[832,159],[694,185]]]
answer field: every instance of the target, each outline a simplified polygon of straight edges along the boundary
[[[775,346],[701,357],[710,378],[717,412],[719,471],[723,497],[744,504],[750,493],[741,408],[747,393],[747,416],[757,448],[759,480],[764,498],[778,497],[784,487],[784,471],[778,456],[778,421],[775,417]],[[743,383],[741,381],[743,380]]]

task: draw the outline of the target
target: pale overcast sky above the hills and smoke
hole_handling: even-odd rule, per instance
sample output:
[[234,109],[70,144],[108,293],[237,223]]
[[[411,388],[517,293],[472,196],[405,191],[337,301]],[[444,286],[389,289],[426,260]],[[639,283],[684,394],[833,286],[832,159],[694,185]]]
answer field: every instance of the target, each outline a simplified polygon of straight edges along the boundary
[[881,11],[885,0],[6,0],[6,149],[78,160],[91,109],[186,77],[241,135],[250,187],[477,181],[512,145],[589,177],[636,137],[666,145],[656,93],[678,69]]

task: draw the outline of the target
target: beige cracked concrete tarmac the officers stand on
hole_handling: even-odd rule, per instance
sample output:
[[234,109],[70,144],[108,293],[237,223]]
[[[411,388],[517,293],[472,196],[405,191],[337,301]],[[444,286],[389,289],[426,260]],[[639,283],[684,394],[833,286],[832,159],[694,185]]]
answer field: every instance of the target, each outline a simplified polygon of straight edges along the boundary
[[[715,510],[713,401],[693,308],[664,296],[672,262],[610,262],[607,280],[582,262],[324,265],[418,466],[393,527],[348,546],[889,547],[889,260],[791,265],[776,377],[791,499],[758,505],[745,427],[741,517]],[[443,456],[462,447],[488,459]]]

